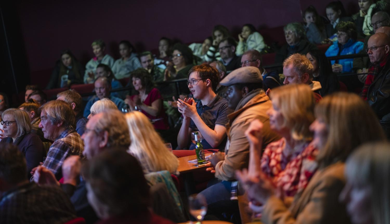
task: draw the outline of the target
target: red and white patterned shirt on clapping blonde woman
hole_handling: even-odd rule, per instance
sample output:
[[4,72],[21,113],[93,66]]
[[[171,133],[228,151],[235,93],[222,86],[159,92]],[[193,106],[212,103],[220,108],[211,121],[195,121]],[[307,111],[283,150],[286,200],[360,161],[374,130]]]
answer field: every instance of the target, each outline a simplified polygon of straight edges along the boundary
[[318,149],[310,142],[295,148],[289,156],[284,153],[285,138],[272,142],[266,147],[261,158],[262,171],[273,179],[277,188],[283,190],[284,196],[294,196],[306,188],[316,172]]

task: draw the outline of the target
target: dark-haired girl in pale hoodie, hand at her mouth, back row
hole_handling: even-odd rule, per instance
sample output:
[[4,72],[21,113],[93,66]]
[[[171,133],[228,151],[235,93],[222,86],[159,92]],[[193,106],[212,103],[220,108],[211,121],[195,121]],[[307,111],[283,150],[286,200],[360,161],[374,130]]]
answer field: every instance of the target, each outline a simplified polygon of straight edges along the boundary
[[241,33],[238,35],[237,56],[241,56],[247,50],[252,49],[262,52],[265,47],[264,38],[256,31],[255,26],[252,24],[245,24]]

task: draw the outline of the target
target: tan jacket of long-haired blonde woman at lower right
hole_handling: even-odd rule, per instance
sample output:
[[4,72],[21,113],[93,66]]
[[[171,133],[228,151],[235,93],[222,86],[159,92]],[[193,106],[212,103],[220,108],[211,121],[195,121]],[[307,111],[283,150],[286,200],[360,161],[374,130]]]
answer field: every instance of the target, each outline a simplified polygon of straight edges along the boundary
[[344,163],[338,162],[312,177],[305,190],[296,194],[290,208],[272,196],[264,205],[262,222],[266,224],[349,224],[345,205],[339,202],[344,188]]

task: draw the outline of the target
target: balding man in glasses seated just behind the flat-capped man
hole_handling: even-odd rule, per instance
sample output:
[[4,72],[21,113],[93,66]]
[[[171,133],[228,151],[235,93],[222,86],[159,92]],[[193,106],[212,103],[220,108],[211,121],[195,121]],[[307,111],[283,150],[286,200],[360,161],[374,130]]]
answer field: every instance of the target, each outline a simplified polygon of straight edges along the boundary
[[248,50],[241,57],[241,67],[254,66],[261,72],[263,78],[263,86],[259,87],[264,90],[273,89],[280,86],[279,75],[275,71],[267,72],[266,69],[261,66],[261,54],[257,50]]

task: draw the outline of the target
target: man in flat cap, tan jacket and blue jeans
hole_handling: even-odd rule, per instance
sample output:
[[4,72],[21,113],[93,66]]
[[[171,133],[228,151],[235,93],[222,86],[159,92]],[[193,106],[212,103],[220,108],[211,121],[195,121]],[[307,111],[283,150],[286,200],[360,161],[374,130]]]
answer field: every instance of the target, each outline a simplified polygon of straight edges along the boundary
[[225,155],[216,153],[209,158],[209,168],[215,173],[217,184],[201,192],[209,205],[208,214],[219,217],[221,212],[237,210],[237,200],[232,194],[237,188],[235,171],[248,168],[249,142],[245,137],[245,130],[250,122],[259,119],[264,123],[262,129],[263,148],[270,142],[280,139],[269,127],[269,116],[266,111],[272,103],[262,89],[262,76],[260,70],[254,66],[238,68],[227,75],[221,85],[227,87],[226,99],[233,113],[228,115],[229,123],[226,125],[228,141]]

